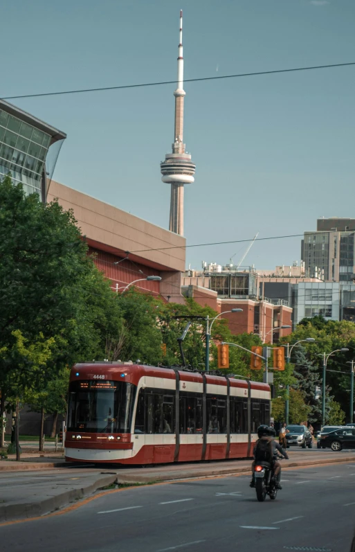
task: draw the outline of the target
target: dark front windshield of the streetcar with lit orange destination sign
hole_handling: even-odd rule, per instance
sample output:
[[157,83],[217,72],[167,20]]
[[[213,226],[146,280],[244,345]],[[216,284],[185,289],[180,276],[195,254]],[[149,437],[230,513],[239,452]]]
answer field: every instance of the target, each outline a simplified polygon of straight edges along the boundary
[[136,386],[89,380],[69,386],[68,431],[129,433]]

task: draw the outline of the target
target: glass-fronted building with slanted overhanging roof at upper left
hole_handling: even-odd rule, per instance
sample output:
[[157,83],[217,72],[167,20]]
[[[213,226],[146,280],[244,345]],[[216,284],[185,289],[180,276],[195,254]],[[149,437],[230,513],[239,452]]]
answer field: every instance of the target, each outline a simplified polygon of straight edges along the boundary
[[0,178],[10,175],[27,194],[46,201],[48,184],[66,134],[0,100]]

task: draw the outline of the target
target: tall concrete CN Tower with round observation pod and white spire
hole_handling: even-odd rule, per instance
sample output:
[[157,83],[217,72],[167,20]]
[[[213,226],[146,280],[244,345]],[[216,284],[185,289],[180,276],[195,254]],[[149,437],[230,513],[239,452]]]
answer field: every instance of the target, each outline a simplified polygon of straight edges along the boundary
[[165,155],[161,162],[161,179],[171,184],[170,223],[169,230],[183,235],[183,186],[194,182],[196,166],[191,161],[191,155],[185,152],[183,143],[183,12],[180,12],[180,41],[178,57],[177,88],[175,96],[175,130],[172,153]]

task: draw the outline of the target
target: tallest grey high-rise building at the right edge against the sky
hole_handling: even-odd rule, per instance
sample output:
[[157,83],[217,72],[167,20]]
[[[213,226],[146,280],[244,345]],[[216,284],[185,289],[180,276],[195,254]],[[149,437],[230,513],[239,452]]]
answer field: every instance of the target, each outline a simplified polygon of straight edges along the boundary
[[317,220],[317,230],[304,232],[301,257],[309,278],[352,282],[355,271],[355,219]]

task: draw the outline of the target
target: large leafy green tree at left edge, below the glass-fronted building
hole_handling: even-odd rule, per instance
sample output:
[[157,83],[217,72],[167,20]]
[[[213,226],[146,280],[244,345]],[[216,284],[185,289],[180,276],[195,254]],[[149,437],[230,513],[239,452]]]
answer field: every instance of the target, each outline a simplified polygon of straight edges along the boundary
[[[46,366],[28,364],[28,389],[34,382],[41,391],[39,373],[55,379],[66,365],[102,358],[109,335],[120,331],[118,297],[87,253],[71,211],[26,196],[10,177],[0,181],[0,348],[12,350],[17,331],[28,348],[39,335],[55,340]],[[0,357],[0,416],[6,397],[17,395],[11,358]]]

